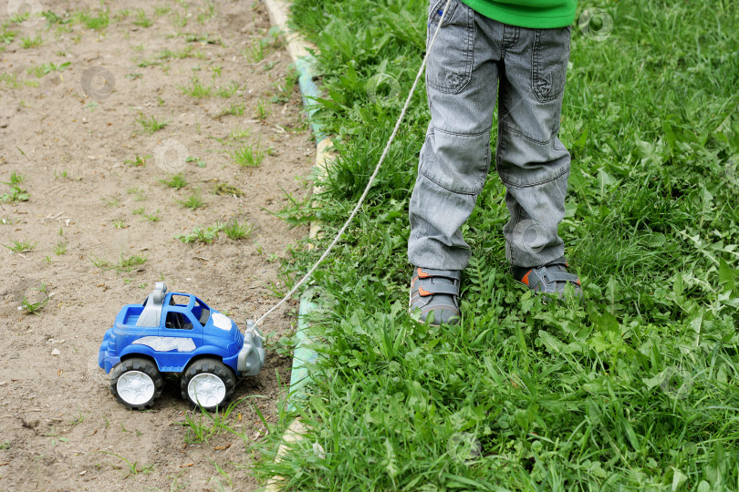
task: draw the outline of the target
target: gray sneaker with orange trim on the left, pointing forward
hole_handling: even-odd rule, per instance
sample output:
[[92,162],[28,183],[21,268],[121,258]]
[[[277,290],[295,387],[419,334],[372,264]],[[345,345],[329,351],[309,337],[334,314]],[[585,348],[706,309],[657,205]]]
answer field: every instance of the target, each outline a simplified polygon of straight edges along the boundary
[[420,311],[419,321],[439,326],[459,324],[459,283],[462,272],[413,267],[408,312]]

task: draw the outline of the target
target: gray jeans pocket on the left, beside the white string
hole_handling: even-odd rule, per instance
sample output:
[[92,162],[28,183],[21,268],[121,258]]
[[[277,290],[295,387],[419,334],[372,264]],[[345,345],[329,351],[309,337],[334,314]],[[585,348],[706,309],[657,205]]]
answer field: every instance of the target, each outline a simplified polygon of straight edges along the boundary
[[474,11],[452,0],[444,15],[446,0],[432,0],[429,8],[426,49],[428,50],[437,27],[439,34],[426,66],[426,86],[439,92],[458,94],[472,77],[474,59]]

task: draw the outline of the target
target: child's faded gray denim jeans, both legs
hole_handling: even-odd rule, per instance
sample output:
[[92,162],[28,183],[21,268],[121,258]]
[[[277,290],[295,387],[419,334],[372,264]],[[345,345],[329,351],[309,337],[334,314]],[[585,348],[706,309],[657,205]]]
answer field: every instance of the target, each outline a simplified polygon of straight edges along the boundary
[[[429,7],[427,46],[446,0]],[[511,219],[505,254],[534,267],[564,254],[557,226],[565,216],[570,156],[557,138],[570,28],[527,29],[494,21],[452,0],[426,67],[431,123],[411,195],[411,264],[463,270],[470,247],[460,228],[495,161]],[[494,232],[494,231],[491,231]]]

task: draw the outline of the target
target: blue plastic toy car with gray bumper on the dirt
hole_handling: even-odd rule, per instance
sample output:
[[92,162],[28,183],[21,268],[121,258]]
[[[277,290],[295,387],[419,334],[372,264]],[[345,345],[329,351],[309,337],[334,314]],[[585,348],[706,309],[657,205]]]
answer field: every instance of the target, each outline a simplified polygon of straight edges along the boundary
[[229,400],[236,376],[259,374],[264,340],[254,323],[241,333],[194,295],[167,292],[157,282],[143,303],[120,310],[103,336],[98,364],[110,374],[110,393],[129,408],[153,405],[161,373],[179,373],[182,398],[212,411]]

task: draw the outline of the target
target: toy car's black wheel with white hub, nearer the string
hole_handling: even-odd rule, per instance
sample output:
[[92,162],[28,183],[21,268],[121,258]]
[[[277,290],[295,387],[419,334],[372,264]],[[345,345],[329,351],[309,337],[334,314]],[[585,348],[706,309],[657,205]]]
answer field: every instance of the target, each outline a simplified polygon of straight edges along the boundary
[[182,373],[182,398],[191,405],[213,412],[234,393],[234,371],[217,359],[199,359]]

